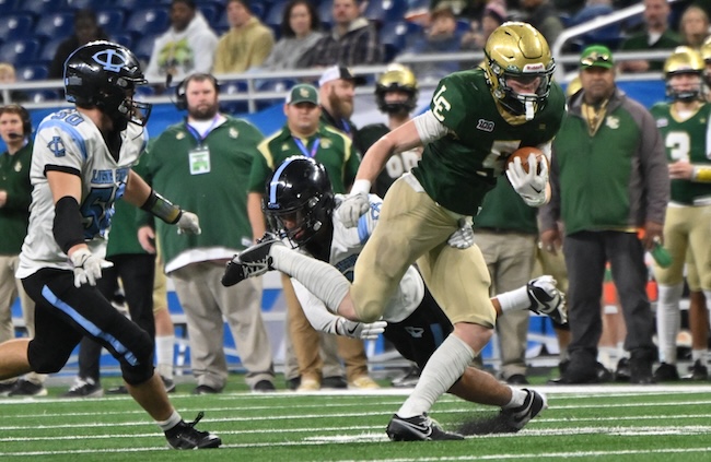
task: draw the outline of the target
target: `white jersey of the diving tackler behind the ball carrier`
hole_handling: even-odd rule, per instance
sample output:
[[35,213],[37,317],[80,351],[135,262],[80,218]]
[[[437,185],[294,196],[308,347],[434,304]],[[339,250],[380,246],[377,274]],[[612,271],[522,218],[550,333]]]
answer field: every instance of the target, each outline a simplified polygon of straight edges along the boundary
[[[336,194],[336,204],[340,204],[345,196]],[[330,257],[328,262],[337,268],[349,281],[353,281],[353,269],[356,260],[363,250],[363,246],[373,234],[381,213],[383,200],[375,194],[369,194],[371,209],[363,214],[358,226],[347,228],[338,220],[337,213],[333,214],[334,237],[330,246]],[[325,310],[324,303],[313,295],[299,281],[291,280],[296,293],[296,297],[302,306],[312,307],[320,305]],[[415,266],[408,268],[403,276],[398,291],[389,299],[383,313],[383,320],[387,322],[400,322],[417,309],[424,298],[424,283],[420,273]]]

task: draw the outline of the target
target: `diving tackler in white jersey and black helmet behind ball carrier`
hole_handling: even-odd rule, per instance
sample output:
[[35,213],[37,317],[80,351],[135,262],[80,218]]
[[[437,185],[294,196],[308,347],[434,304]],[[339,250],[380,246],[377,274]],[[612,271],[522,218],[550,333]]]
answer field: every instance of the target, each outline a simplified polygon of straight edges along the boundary
[[[333,213],[341,198],[340,194],[334,196],[320,164],[308,157],[294,156],[284,161],[268,181],[264,211],[269,227],[285,242],[329,262],[352,280],[356,260],[377,224],[382,200],[370,194],[371,206],[363,215],[364,220],[361,220],[358,228],[347,228]],[[246,268],[237,257],[229,264],[223,284],[238,282],[248,272],[244,271]],[[299,281],[292,279],[292,282],[304,312],[315,329],[360,339],[375,339],[384,332],[384,336],[404,357],[420,367],[453,330],[452,322],[434,301],[415,266],[409,266],[405,273],[384,310],[383,320],[373,323],[354,322],[331,313]],[[550,276],[541,276],[531,281],[527,286],[500,294],[492,299],[492,304],[499,316],[509,310],[529,309],[546,313],[559,323],[567,320],[563,299]],[[508,393],[503,391],[505,389]],[[506,406],[514,389],[471,367],[465,370],[450,392],[467,401],[502,407],[487,431],[517,431],[537,414],[524,412],[531,403],[524,406],[525,410]]]

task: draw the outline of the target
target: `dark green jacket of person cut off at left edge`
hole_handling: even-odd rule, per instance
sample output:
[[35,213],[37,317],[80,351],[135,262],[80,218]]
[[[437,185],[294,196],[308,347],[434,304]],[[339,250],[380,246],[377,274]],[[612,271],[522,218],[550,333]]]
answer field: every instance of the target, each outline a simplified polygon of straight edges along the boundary
[[8,192],[4,206],[0,208],[0,254],[18,256],[27,235],[32,183],[30,165],[32,146],[28,142],[14,155],[0,154],[0,189]]

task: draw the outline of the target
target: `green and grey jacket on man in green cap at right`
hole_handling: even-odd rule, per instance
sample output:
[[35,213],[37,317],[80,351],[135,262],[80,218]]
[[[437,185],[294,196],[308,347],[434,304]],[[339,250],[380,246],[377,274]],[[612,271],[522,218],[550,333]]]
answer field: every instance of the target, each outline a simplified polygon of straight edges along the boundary
[[664,223],[669,175],[662,137],[650,112],[615,91],[599,130],[582,116],[584,92],[571,99],[553,142],[552,197],[540,209],[541,230],[562,220],[566,234],[628,230]]

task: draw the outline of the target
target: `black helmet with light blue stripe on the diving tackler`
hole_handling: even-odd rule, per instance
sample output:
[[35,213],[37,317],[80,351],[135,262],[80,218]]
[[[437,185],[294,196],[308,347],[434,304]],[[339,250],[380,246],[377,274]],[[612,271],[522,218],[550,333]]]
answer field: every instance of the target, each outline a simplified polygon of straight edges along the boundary
[[326,168],[313,158],[289,157],[267,180],[263,210],[269,228],[293,248],[308,242],[330,222],[334,206]]

